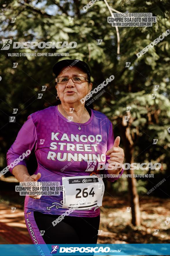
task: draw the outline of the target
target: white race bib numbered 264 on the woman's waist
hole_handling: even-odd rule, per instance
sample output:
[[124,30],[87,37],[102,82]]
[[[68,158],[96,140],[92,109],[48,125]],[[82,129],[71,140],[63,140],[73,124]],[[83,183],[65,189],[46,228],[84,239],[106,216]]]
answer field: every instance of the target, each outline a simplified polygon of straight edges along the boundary
[[[101,206],[105,185],[102,178],[92,176],[62,177],[63,206],[89,210]],[[97,207],[98,208],[98,207]]]

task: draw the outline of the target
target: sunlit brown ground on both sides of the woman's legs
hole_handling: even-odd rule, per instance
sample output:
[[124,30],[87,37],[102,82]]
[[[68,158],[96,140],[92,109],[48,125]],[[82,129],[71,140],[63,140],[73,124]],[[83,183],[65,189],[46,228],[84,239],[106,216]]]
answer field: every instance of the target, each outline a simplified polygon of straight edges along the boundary
[[[31,243],[23,218],[24,198],[21,202],[16,202],[12,197],[10,200],[7,198],[9,195],[1,196],[0,223],[14,228],[14,232],[17,230],[28,236],[25,241]],[[15,213],[10,212],[11,207],[16,207]],[[98,243],[170,243],[170,223],[165,224],[165,220],[170,217],[170,199],[147,196],[140,198],[141,225],[138,227],[131,224],[131,212],[127,211],[127,207],[127,198],[104,196],[103,206],[100,208],[99,229],[102,231],[98,236]],[[5,226],[3,228],[6,229]],[[5,234],[1,225],[1,244],[7,237]],[[10,239],[8,240],[10,243]],[[20,242],[23,243],[22,239]]]

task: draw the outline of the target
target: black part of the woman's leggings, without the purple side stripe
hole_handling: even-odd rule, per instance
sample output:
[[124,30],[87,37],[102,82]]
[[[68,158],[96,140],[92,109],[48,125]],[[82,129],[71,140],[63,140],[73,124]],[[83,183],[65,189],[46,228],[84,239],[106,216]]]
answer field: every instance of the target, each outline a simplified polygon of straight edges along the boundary
[[43,239],[47,244],[97,243],[100,215],[97,217],[65,216],[56,226],[52,221],[59,215],[34,211],[34,219],[39,230],[45,230]]

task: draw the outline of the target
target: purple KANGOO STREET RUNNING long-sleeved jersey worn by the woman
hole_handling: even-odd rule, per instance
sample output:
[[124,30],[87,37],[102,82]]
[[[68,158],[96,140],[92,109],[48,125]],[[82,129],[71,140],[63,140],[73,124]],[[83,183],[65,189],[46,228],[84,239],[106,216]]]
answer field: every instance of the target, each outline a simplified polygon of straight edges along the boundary
[[[74,122],[61,115],[57,106],[37,111],[28,116],[16,140],[7,153],[10,165],[27,150],[35,152],[38,167],[34,174],[41,173],[39,182],[60,182],[62,177],[107,174],[97,170],[98,163],[107,163],[106,151],[114,145],[112,123],[103,113],[92,110],[90,119],[81,124],[81,130]],[[29,156],[26,157],[26,159]],[[96,161],[96,165],[91,163]],[[18,164],[25,164],[25,160]],[[10,172],[12,173],[10,168]],[[123,170],[120,172],[122,175]],[[108,178],[115,181],[116,178]],[[24,213],[40,211],[45,214],[63,214],[63,192],[60,195],[42,195],[40,199],[25,197]],[[88,210],[74,210],[70,216],[96,217],[98,207]]]

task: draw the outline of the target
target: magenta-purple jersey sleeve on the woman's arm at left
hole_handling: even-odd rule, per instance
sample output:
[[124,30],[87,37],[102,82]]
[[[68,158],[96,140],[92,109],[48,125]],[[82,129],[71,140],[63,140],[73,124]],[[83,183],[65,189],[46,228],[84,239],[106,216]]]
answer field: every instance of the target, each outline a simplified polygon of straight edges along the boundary
[[31,152],[36,149],[36,127],[32,121],[31,115],[21,127],[16,140],[7,152],[7,169],[12,173],[14,166],[25,164]]

